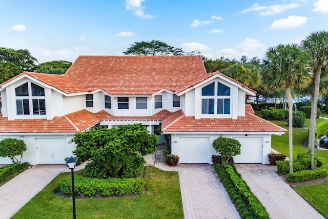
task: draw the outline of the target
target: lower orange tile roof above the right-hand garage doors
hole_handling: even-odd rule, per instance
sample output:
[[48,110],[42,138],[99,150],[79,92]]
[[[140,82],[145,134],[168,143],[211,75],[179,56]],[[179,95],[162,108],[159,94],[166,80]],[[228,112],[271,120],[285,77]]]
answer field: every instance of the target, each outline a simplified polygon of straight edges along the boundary
[[173,113],[162,121],[163,132],[286,132],[287,130],[263,120],[249,112],[245,116],[231,118],[200,118],[185,116],[182,110]]

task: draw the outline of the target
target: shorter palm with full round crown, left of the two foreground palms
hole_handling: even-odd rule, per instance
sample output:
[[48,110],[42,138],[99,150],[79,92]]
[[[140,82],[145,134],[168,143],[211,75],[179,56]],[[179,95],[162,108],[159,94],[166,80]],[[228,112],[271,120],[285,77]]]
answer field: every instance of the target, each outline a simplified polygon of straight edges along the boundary
[[285,90],[289,107],[289,167],[293,172],[293,97],[291,89],[310,83],[309,54],[297,44],[268,49],[263,59],[262,83],[271,91]]

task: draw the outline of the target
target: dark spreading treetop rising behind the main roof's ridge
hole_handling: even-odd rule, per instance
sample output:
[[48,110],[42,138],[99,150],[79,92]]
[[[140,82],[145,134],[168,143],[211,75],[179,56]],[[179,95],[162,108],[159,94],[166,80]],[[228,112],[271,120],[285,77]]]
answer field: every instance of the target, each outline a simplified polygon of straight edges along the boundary
[[168,44],[155,41],[154,39],[151,42],[141,41],[136,42],[130,45],[125,52],[126,55],[183,55],[185,52],[181,48],[174,48]]

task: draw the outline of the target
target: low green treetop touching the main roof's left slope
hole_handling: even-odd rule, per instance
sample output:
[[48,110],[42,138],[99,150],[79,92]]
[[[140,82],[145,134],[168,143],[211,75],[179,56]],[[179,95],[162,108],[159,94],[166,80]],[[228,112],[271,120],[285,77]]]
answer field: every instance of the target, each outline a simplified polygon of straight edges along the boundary
[[68,61],[51,61],[39,64],[34,71],[48,74],[64,74],[71,65],[72,63]]

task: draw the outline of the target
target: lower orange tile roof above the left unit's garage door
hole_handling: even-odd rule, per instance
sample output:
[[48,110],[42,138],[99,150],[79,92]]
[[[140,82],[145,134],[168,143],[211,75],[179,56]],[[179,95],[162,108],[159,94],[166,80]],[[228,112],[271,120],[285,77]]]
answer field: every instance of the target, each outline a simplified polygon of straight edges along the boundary
[[87,110],[77,111],[65,116],[57,116],[52,120],[19,119],[10,120],[0,116],[0,133],[50,133],[79,132],[99,122],[98,118]]

